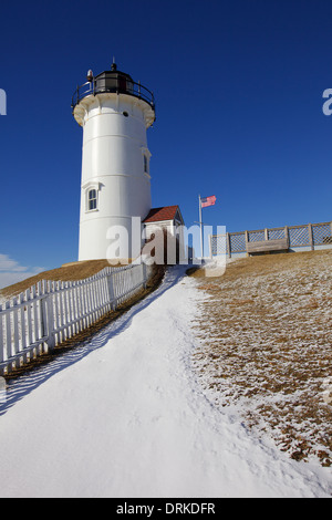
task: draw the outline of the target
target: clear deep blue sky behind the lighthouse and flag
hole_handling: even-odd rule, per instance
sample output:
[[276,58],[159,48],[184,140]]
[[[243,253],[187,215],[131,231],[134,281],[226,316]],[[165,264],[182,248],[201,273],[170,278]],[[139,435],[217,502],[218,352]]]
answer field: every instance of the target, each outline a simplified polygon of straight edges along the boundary
[[[330,0],[30,1],[1,6],[0,277],[77,258],[86,71],[154,91],[153,206],[228,231],[331,220]],[[10,267],[11,266],[11,267]]]

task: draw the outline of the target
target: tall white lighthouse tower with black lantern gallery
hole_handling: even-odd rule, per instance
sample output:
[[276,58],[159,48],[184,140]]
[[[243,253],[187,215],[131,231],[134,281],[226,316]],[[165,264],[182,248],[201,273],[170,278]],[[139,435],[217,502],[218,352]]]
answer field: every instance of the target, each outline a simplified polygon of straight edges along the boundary
[[155,121],[153,93],[113,63],[96,76],[89,71],[72,110],[83,127],[79,260],[108,258],[120,229],[126,232],[116,235],[118,249],[135,257],[141,228],[133,251],[133,217],[143,221],[152,207],[146,131]]

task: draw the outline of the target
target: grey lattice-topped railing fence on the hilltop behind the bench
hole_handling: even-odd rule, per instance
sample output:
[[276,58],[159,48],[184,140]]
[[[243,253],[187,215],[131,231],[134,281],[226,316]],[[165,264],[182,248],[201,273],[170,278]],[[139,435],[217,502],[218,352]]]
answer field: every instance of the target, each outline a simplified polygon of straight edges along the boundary
[[[226,238],[226,240],[225,240]],[[290,250],[315,250],[332,248],[332,222],[284,226],[253,231],[238,231],[210,236],[210,256],[232,256],[247,253],[247,243],[287,238]]]

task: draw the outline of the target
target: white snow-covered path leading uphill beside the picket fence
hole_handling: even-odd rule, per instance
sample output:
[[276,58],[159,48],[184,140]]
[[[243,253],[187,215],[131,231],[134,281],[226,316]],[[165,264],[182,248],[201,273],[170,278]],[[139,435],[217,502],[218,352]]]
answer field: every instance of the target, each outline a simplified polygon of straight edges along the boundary
[[91,343],[10,386],[1,497],[331,496],[331,470],[263,445],[201,394],[190,371],[201,292],[181,272]]

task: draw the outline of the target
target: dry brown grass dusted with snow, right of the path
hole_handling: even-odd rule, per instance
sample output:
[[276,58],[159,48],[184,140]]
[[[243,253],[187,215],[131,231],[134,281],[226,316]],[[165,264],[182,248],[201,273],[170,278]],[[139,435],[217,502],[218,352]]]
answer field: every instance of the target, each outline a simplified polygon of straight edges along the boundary
[[219,406],[242,407],[293,459],[332,464],[332,250],[237,260],[220,278],[190,274],[208,295],[194,366]]

